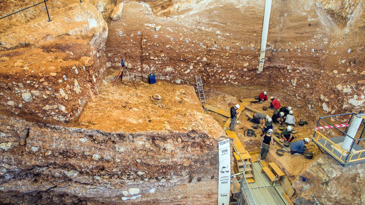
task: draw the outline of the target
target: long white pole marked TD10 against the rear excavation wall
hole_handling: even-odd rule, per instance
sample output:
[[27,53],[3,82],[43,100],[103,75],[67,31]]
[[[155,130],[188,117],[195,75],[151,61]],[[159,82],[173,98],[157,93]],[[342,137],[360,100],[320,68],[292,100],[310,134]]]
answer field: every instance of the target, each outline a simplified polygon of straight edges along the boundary
[[269,31],[271,1],[272,0],[265,0],[264,24],[262,25],[262,34],[261,34],[260,64],[258,65],[257,73],[261,73],[262,68],[264,67],[266,42],[268,40],[268,31]]

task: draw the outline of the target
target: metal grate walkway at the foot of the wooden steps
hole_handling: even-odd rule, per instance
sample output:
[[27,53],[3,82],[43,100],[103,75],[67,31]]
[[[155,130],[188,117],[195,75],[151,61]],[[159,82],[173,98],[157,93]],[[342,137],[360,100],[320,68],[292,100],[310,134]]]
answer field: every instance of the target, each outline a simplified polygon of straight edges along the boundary
[[[265,173],[261,173],[259,162],[252,163],[255,174],[255,182],[249,183],[251,192],[257,205],[288,205],[289,202],[283,196],[283,187],[280,184],[273,187]],[[279,194],[280,193],[280,194]]]

